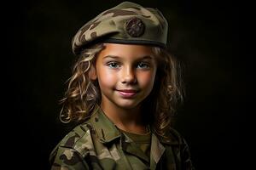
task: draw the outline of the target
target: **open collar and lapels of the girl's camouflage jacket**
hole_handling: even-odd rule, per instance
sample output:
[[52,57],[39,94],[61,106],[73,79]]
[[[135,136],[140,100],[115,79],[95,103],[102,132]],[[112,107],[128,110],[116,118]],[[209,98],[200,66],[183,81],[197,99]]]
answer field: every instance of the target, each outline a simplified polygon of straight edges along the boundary
[[[116,127],[113,122],[108,119],[108,116],[103,113],[102,109],[98,105],[96,105],[96,110],[90,116],[90,123],[94,127],[96,135],[102,144],[107,144],[114,141],[115,139],[120,139],[121,147],[123,150],[133,155],[139,156],[145,161],[148,161],[148,158],[144,157],[143,154],[138,154],[137,150],[133,150],[135,146],[133,147],[133,142],[131,139],[125,137],[123,133],[120,133],[118,127]],[[153,167],[153,169],[156,167],[156,164],[160,161],[160,157],[166,150],[163,144],[178,144],[177,139],[174,138],[176,135],[173,136],[172,132],[170,132],[170,135],[171,139],[163,139],[152,132],[152,153],[150,156],[150,167]]]

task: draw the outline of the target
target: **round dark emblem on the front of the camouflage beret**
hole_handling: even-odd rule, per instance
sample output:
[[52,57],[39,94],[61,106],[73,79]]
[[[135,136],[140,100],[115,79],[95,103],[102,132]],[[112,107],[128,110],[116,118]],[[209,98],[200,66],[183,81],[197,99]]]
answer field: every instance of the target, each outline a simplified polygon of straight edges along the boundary
[[132,18],[127,20],[125,29],[131,37],[141,37],[145,31],[145,25],[143,20],[138,18]]

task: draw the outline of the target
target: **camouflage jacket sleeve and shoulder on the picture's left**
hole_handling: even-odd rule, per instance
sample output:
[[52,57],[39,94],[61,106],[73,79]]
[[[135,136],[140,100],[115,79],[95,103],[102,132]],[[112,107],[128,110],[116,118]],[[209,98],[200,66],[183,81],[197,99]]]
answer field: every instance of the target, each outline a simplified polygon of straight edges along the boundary
[[51,170],[74,170],[89,169],[87,162],[83,156],[73,148],[58,146],[52,151],[50,157]]

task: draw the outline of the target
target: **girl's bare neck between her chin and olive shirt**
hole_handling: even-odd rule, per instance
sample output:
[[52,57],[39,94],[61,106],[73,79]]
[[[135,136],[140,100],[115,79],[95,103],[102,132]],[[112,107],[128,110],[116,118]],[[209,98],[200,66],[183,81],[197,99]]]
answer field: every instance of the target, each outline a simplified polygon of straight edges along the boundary
[[101,104],[102,111],[119,129],[130,133],[147,133],[142,120],[141,107],[120,108],[117,105]]

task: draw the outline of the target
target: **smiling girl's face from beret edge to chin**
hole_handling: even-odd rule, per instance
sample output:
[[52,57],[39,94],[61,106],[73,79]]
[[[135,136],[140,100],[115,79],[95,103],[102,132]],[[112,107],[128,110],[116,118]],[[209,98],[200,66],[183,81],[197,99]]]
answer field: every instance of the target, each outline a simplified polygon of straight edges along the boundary
[[96,58],[95,74],[101,88],[102,105],[135,108],[150,94],[156,69],[150,47],[105,43]]

